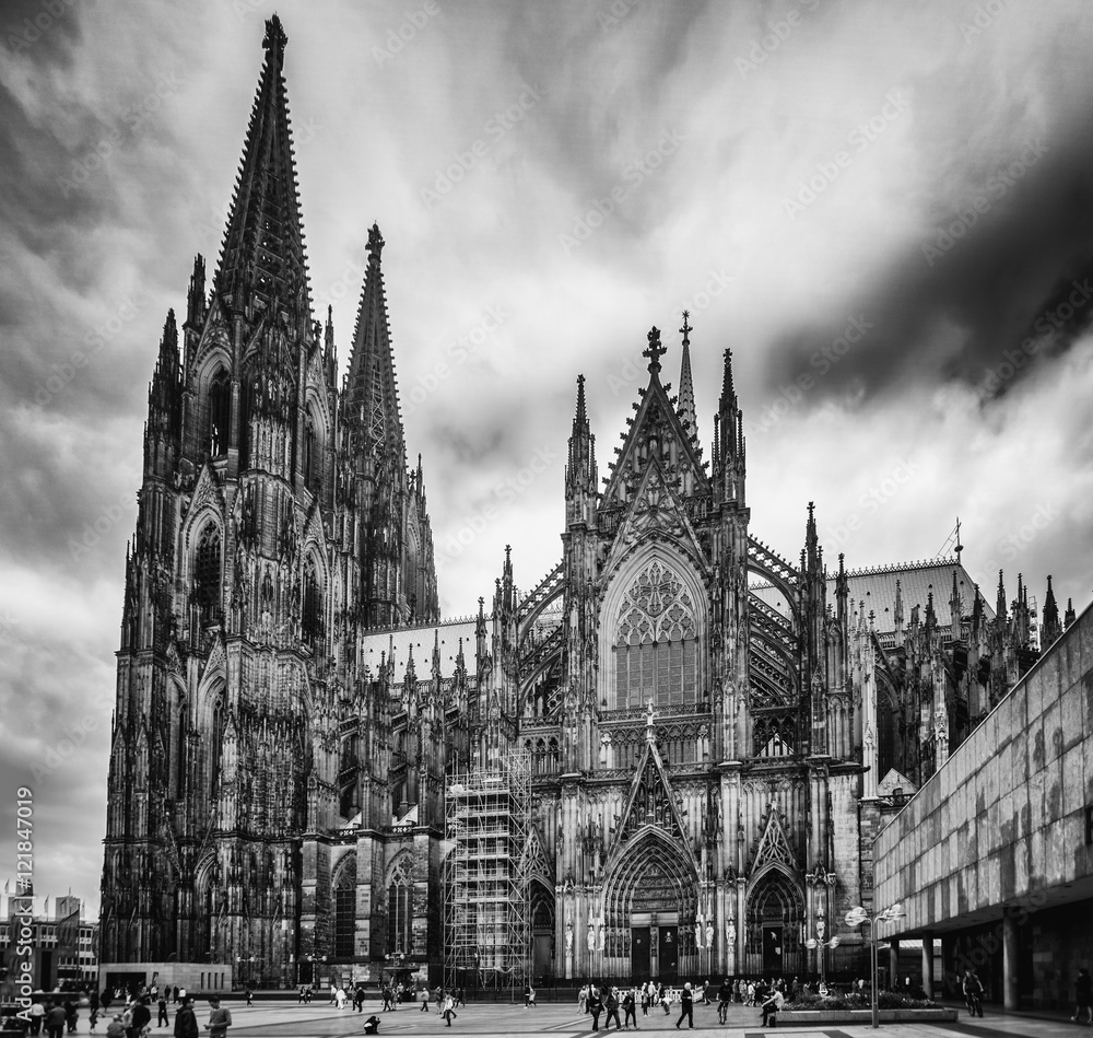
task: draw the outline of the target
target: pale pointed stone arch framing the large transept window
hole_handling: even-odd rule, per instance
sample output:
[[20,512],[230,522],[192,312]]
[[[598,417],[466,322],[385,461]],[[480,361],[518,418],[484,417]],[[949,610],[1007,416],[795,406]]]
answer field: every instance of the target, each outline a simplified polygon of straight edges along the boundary
[[646,543],[615,570],[600,605],[599,619],[603,633],[599,640],[598,698],[601,701],[606,699],[612,707],[616,703],[615,648],[622,619],[620,613],[638,580],[649,573],[655,564],[678,582],[677,604],[684,598],[686,600],[685,611],[690,614],[695,640],[694,698],[696,700],[701,701],[703,689],[706,687],[709,617],[708,598],[702,578],[686,556],[661,544]]

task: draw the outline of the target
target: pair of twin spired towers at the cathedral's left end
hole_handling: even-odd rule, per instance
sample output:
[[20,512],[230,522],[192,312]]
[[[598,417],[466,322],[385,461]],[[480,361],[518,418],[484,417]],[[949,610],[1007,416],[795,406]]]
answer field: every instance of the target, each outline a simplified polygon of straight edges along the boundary
[[149,389],[101,952],[244,960],[277,984],[315,937],[305,835],[389,818],[386,688],[361,634],[437,610],[378,228],[342,393],[330,316],[313,322],[286,43],[273,16],[212,284],[198,256],[183,341],[171,312]]

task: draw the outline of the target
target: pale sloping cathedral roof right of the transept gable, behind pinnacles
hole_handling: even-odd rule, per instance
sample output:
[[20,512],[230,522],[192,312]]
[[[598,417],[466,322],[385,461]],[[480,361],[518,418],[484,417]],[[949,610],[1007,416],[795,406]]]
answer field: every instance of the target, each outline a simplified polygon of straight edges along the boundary
[[[938,618],[938,629],[945,631],[952,627],[952,606],[949,598],[952,594],[953,570],[956,571],[956,585],[963,600],[964,616],[972,615],[975,600],[975,581],[967,570],[955,559],[926,559],[921,562],[897,562],[892,565],[878,565],[861,570],[847,570],[846,583],[849,596],[849,609],[853,614],[859,608],[862,599],[866,603],[866,616],[873,614],[873,626],[881,637],[895,631],[895,597],[896,582],[900,583],[900,597],[903,600],[903,622],[906,629],[910,625],[910,610],[920,606],[920,615],[925,619],[926,604],[930,592],[933,592],[933,611]],[[835,575],[827,578],[827,600],[835,600]],[[751,591],[767,605],[779,613],[786,614],[785,595],[772,584],[752,584]],[[984,617],[994,619],[995,611],[984,602]]]

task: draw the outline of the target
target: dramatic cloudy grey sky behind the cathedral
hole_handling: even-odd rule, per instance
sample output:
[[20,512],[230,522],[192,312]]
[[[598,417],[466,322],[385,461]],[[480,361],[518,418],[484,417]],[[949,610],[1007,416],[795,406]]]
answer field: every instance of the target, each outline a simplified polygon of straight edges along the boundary
[[[1093,19],[1081,2],[281,2],[316,316],[378,221],[446,616],[556,563],[690,312],[732,350],[751,529],[791,561],[1093,588]],[[262,0],[0,7],[0,878],[94,911],[148,382],[223,236]],[[913,605],[908,603],[908,606]]]

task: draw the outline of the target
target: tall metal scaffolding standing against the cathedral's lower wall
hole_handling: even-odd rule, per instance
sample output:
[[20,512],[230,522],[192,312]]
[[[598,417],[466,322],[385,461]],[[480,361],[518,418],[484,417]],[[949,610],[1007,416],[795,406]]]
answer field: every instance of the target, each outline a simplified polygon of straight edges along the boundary
[[445,789],[444,982],[515,999],[530,970],[528,808],[531,767],[448,778]]

